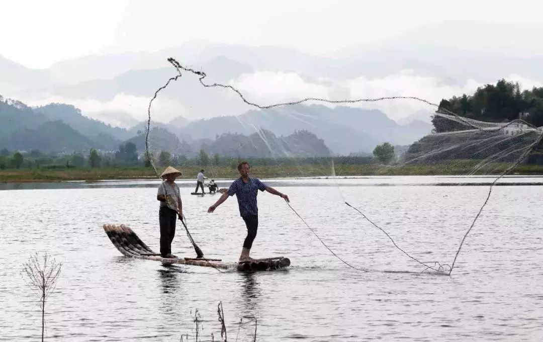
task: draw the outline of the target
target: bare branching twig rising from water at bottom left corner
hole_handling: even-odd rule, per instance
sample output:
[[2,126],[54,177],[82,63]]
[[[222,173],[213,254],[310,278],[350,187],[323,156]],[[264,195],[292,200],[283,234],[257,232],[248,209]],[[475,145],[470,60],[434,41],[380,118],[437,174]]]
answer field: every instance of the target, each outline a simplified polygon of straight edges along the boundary
[[50,259],[47,252],[42,257],[36,253],[23,264],[23,276],[27,278],[28,286],[40,295],[42,342],[45,331],[45,303],[55,289],[61,267],[62,264]]

